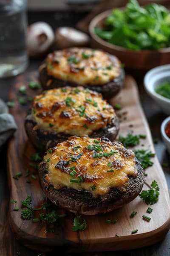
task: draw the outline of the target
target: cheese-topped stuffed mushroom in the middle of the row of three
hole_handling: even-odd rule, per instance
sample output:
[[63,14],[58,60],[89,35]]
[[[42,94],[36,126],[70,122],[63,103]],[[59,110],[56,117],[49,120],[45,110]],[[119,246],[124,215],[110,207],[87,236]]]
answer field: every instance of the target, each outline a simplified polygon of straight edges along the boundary
[[37,148],[48,149],[71,135],[114,140],[119,120],[100,93],[84,87],[61,87],[36,96],[25,128]]

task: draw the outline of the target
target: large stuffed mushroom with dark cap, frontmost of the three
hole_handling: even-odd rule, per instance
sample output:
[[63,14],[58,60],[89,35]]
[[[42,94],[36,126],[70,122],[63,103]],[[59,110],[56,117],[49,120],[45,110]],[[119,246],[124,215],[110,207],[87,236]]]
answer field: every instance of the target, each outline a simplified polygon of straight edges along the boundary
[[40,184],[54,204],[68,211],[110,212],[142,190],[144,170],[122,143],[74,136],[46,153],[39,165]]

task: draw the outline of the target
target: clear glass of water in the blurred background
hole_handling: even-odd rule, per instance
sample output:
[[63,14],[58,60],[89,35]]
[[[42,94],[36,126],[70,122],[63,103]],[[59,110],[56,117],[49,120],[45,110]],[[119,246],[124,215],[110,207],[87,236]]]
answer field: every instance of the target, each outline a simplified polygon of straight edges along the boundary
[[0,0],[0,78],[26,70],[27,1]]

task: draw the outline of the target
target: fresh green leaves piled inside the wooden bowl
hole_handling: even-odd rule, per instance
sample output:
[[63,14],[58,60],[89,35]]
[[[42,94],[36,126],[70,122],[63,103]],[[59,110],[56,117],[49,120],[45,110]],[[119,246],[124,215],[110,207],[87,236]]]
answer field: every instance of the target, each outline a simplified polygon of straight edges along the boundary
[[156,3],[141,7],[130,0],[125,9],[113,9],[103,27],[96,26],[99,38],[127,49],[158,50],[170,47],[170,12]]

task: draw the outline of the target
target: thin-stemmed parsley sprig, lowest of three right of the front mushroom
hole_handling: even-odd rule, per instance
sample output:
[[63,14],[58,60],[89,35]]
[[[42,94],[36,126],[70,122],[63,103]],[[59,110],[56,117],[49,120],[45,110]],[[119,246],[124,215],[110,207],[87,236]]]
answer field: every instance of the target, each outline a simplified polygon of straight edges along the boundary
[[150,184],[150,189],[142,190],[139,197],[142,198],[146,204],[156,204],[159,200],[159,186],[156,180],[153,180],[153,182]]

